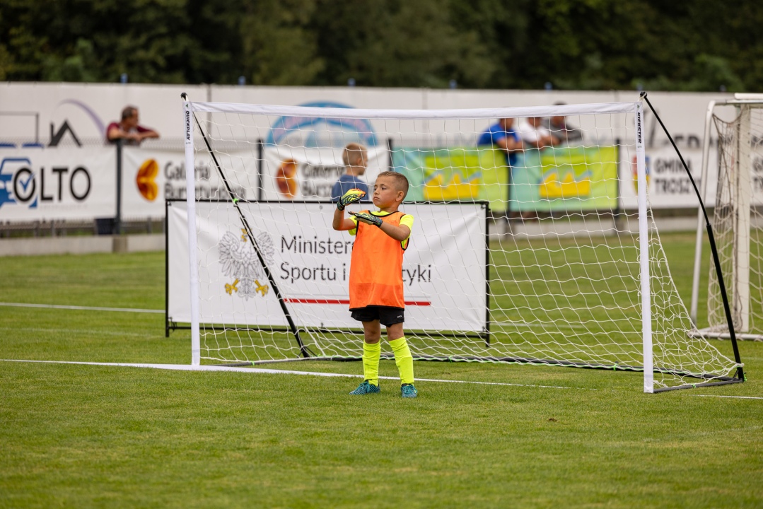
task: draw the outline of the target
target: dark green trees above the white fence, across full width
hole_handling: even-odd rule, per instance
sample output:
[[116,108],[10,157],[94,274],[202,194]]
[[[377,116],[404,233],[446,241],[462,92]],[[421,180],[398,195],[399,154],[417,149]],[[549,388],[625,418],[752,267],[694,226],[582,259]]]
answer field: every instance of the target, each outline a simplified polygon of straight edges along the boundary
[[6,0],[0,79],[760,91],[763,3]]

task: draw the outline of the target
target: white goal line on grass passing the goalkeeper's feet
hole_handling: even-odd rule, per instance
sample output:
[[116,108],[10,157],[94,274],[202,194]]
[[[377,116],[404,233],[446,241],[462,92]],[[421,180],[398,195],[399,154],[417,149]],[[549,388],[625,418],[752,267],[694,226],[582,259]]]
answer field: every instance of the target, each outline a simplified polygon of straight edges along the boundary
[[[169,369],[172,371],[228,371],[239,373],[262,373],[271,375],[310,375],[310,376],[327,376],[327,377],[343,377],[352,379],[362,379],[363,375],[349,375],[346,373],[324,373],[324,372],[312,372],[312,371],[292,371],[291,369],[264,369],[264,368],[247,368],[239,366],[191,366],[190,364],[140,364],[140,363],[127,363],[127,362],[79,362],[79,361],[63,361],[63,360],[26,360],[26,359],[0,359],[2,362],[37,362],[45,364],[82,364],[85,366],[120,366],[124,368],[153,368],[153,369]],[[400,380],[396,376],[380,376],[379,379],[383,380]],[[441,382],[452,384],[473,384],[473,385],[509,385],[512,387],[533,387],[533,388],[549,388],[549,389],[571,389],[574,387],[562,387],[557,385],[530,385],[530,384],[510,384],[505,382],[469,382],[467,380],[439,380],[439,379],[416,379],[416,382]],[[596,389],[584,389],[589,391],[595,391]]]

